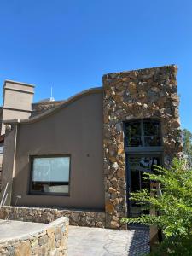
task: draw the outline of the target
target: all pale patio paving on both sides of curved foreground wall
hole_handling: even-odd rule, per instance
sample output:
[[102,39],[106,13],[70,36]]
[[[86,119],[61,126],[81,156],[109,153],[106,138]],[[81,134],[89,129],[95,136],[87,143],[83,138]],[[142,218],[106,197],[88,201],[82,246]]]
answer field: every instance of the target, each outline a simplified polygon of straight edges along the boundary
[[[0,220],[0,242],[25,236],[46,224]],[[138,256],[149,252],[149,231],[135,227],[131,230],[108,230],[69,226],[68,256]]]

